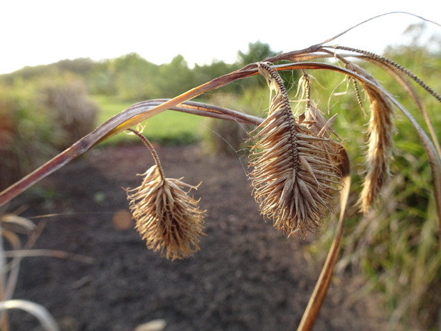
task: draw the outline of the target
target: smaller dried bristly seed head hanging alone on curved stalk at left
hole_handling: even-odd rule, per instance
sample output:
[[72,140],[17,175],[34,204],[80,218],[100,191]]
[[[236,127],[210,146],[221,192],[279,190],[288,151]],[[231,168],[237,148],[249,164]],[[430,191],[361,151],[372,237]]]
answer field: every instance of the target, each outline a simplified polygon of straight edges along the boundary
[[161,256],[165,250],[166,258],[172,260],[188,258],[199,250],[205,211],[183,189],[197,189],[197,186],[166,178],[152,144],[139,132],[131,131],[141,137],[156,162],[143,174],[141,186],[126,189],[136,228],[147,240],[147,248],[161,251]]

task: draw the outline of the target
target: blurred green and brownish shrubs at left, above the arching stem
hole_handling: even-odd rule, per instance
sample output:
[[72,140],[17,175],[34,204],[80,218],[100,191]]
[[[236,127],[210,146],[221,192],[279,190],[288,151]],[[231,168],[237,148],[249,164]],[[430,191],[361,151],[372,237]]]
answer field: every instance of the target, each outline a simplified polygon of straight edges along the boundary
[[83,83],[70,78],[0,86],[0,187],[90,132],[97,110]]

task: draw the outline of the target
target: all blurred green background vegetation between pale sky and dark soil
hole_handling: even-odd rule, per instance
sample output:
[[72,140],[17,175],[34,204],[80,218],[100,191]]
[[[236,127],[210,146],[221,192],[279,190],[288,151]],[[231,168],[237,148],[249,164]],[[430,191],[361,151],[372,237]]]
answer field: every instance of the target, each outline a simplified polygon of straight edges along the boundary
[[[419,43],[423,26],[411,26],[408,46],[393,46],[384,55],[412,70],[441,92],[441,41]],[[350,45],[349,45],[350,46]],[[369,51],[369,50],[367,50]],[[70,146],[113,115],[141,100],[173,98],[197,85],[230,73],[243,65],[274,55],[270,46],[250,43],[233,64],[213,61],[188,66],[182,56],[155,65],[136,53],[105,61],[89,58],[63,60],[26,67],[0,75],[0,189]],[[386,73],[364,65],[380,83],[423,123],[410,98]],[[430,167],[413,127],[397,112],[395,154],[391,177],[376,209],[362,216],[356,200],[363,177],[368,114],[363,114],[351,84],[341,75],[309,72],[314,77],[312,96],[326,116],[339,113],[334,129],[351,156],[352,198],[346,238],[337,273],[363,270],[368,283],[362,291],[381,290],[394,325],[430,330],[437,325],[441,307],[441,250],[430,184]],[[299,73],[283,73],[293,100]],[[338,86],[338,87],[337,87]],[[337,88],[336,88],[337,87]],[[441,112],[435,99],[417,87],[432,116],[440,139]],[[363,94],[362,94],[363,97]],[[269,93],[260,77],[240,80],[199,97],[253,115],[264,115]],[[368,111],[368,103],[363,101]],[[437,111],[438,110],[438,111]],[[425,127],[425,125],[423,125]],[[211,152],[236,154],[245,147],[250,127],[208,120],[179,112],[163,112],[147,123],[144,134],[153,142],[171,145],[201,143]],[[129,143],[118,135],[106,145]],[[333,236],[329,222],[309,250],[326,252]]]

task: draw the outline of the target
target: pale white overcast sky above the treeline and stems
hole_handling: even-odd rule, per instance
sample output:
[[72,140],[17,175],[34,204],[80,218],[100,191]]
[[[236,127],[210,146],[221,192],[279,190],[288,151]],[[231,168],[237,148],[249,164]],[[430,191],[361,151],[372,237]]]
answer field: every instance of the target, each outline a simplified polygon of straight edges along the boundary
[[[2,0],[0,73],[65,58],[117,58],[137,52],[156,64],[181,54],[203,64],[233,63],[248,43],[294,51],[322,42],[366,19],[407,11],[441,23],[440,0],[94,1]],[[332,43],[381,53],[403,42],[421,20],[393,14],[359,26]],[[441,35],[441,27],[429,23]]]

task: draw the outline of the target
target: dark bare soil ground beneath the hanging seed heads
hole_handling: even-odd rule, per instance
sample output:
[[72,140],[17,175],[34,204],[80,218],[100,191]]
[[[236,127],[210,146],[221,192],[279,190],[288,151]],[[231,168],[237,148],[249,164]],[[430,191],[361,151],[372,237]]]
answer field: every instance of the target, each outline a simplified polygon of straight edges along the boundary
[[[31,192],[10,206],[28,204],[22,216],[59,214],[35,219],[47,224],[34,248],[94,261],[24,258],[14,298],[45,306],[68,331],[131,331],[156,319],[166,321],[165,331],[296,330],[322,264],[305,249],[314,235],[287,238],[263,221],[246,157],[207,156],[197,147],[158,147],[158,154],[167,177],[202,181],[194,191],[207,209],[201,251],[168,261],[133,227],[117,228],[115,213],[128,209],[122,187],[139,186],[136,174],[153,161],[142,145],[98,149],[45,179],[46,199]],[[314,330],[386,330],[378,295],[354,300],[363,285],[359,276],[336,277]],[[41,330],[19,310],[10,320],[11,330]]]

